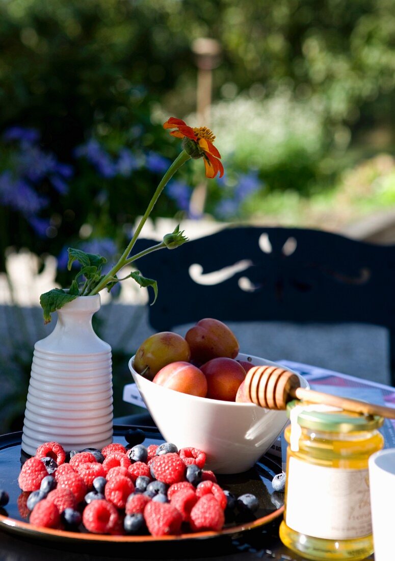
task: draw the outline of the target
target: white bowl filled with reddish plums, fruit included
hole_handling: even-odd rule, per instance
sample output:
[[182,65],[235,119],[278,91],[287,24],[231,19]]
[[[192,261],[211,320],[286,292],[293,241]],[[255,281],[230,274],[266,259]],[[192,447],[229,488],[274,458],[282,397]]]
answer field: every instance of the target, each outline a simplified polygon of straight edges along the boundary
[[178,448],[205,450],[208,469],[227,474],[252,468],[287,424],[286,411],[259,407],[244,391],[248,370],[261,365],[279,366],[241,353],[234,333],[212,318],[198,321],[185,337],[151,335],[129,360],[162,437]]

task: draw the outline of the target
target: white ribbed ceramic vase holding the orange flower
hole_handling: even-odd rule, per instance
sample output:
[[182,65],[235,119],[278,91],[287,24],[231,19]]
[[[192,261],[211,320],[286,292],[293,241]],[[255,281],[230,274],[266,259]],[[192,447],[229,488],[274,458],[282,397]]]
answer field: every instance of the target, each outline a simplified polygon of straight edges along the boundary
[[113,440],[111,347],[92,328],[99,309],[99,295],[77,297],[58,310],[53,332],[34,346],[22,433],[30,456],[44,442],[69,452]]

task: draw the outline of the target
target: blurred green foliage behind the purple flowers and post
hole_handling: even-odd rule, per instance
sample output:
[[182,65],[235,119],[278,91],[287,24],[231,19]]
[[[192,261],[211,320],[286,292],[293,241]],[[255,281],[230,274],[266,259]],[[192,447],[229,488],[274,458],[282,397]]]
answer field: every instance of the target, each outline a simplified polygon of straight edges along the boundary
[[[381,127],[392,146],[391,0],[4,0],[0,131],[34,127],[41,148],[75,172],[61,196],[49,194],[48,182],[38,187],[50,196],[50,213],[41,213],[50,236],[32,235],[14,209],[2,248],[58,255],[80,240],[86,223],[97,237],[124,243],[160,178],[144,158],[153,152],[171,160],[180,149],[162,120],[196,109],[192,45],[202,36],[222,49],[211,124],[227,178],[210,183],[207,211],[215,217],[247,217],[241,197],[227,215],[217,205],[251,169],[260,185],[255,199],[277,191],[309,196],[336,182],[346,150],[362,144],[364,131]],[[109,158],[131,150],[140,165],[128,176],[103,177],[75,157],[90,139]],[[363,140],[356,159],[375,153]],[[192,188],[201,175],[191,165],[180,178]],[[189,195],[184,186],[184,207]],[[164,195],[154,216],[179,208],[180,197]]]

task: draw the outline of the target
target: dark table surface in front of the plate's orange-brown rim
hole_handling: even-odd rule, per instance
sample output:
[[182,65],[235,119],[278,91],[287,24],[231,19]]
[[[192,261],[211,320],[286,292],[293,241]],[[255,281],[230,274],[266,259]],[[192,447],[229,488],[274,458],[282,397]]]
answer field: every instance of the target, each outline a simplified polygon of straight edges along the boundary
[[[136,426],[136,425],[134,425]],[[271,457],[280,462],[278,458]],[[188,559],[212,561],[238,559],[275,559],[303,561],[286,548],[278,537],[282,516],[271,523],[244,531],[238,537],[221,536],[209,540],[187,540],[137,544],[82,544],[49,542],[0,530],[0,561],[104,561],[105,559]],[[374,559],[371,555],[369,560]]]

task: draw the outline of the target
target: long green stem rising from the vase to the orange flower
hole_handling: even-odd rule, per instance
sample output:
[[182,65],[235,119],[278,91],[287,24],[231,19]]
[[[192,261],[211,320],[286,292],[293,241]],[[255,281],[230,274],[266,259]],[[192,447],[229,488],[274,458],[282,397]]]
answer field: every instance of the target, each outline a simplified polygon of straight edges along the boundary
[[[155,191],[154,195],[152,196],[150,204],[148,204],[147,210],[145,211],[142,219],[140,220],[140,223],[138,224],[131,241],[128,243],[128,246],[127,246],[126,250],[119,257],[119,260],[113,266],[113,268],[110,270],[110,272],[107,273],[103,277],[103,279],[101,279],[100,282],[97,283],[96,286],[89,292],[88,296],[93,296],[93,295],[97,294],[98,292],[100,292],[103,288],[106,287],[106,284],[109,282],[111,277],[114,277],[118,273],[118,271],[120,269],[122,269],[127,263],[131,263],[132,258],[128,259],[128,255],[131,252],[132,247],[134,246],[134,243],[136,243],[137,238],[140,235],[140,232],[142,230],[142,227],[146,223],[149,215],[151,214],[151,211],[154,208],[154,205],[155,205],[156,201],[159,199],[159,196],[160,196],[161,192],[164,190],[164,188],[166,186],[166,183],[168,183],[168,181],[171,179],[171,177],[173,177],[174,173],[185,162],[187,162],[187,160],[189,160],[189,159],[190,159],[190,156],[185,152],[185,150],[183,150],[182,153],[180,153],[178,155],[178,157],[174,160],[174,162],[170,165],[168,171],[166,171],[166,173],[162,177],[159,185],[156,187],[156,191]],[[156,247],[156,249],[159,249],[159,247]],[[143,253],[143,252],[141,252],[141,253]],[[137,257],[135,257],[135,258],[137,259]],[[134,259],[132,259],[132,260],[134,260]]]

